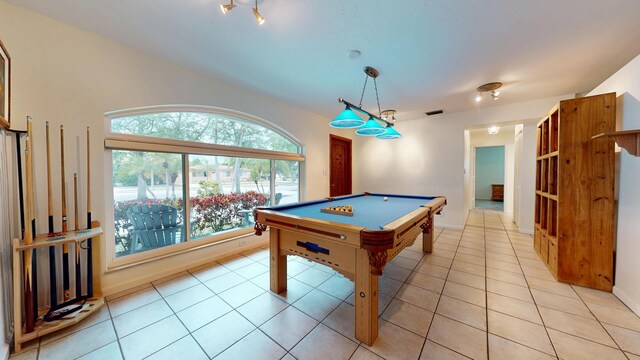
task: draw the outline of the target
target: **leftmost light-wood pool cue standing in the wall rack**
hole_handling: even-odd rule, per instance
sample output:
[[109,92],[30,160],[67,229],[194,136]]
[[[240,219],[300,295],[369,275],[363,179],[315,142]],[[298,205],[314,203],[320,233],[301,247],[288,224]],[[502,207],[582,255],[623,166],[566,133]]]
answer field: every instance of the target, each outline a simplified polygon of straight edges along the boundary
[[[25,149],[25,220],[28,223],[24,227],[24,243],[25,245],[31,245],[33,243],[33,232],[31,227],[31,190],[32,190],[32,173],[31,173],[31,125],[30,120],[27,118],[27,139]],[[33,250],[26,250],[23,252],[23,267],[24,267],[24,312],[25,312],[25,330],[27,333],[32,332],[35,329],[36,313],[34,312],[33,303]]]

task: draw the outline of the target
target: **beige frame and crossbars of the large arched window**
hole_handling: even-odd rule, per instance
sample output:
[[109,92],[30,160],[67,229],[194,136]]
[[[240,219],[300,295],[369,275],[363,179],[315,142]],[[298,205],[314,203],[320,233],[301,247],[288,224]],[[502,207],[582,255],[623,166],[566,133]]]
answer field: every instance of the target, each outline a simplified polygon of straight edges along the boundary
[[[120,134],[111,132],[111,121],[121,117],[129,116],[143,116],[148,114],[166,113],[166,112],[196,112],[196,113],[209,113],[215,115],[223,115],[232,119],[237,119],[246,123],[262,126],[277,134],[285,137],[293,144],[296,145],[297,153],[289,153],[283,151],[263,150],[254,148],[245,148],[231,145],[219,145],[219,144],[207,144],[194,141],[175,140],[159,137],[147,137],[143,135],[131,135]],[[295,136],[281,127],[250,114],[246,114],[240,111],[212,107],[212,106],[200,106],[200,105],[160,105],[149,106],[128,110],[111,111],[104,114],[105,117],[105,172],[108,174],[113,173],[113,150],[125,150],[125,151],[148,151],[148,152],[162,152],[173,153],[182,155],[183,159],[183,176],[184,183],[188,184],[191,177],[189,173],[189,155],[213,155],[213,156],[230,156],[230,157],[244,157],[244,158],[259,158],[269,159],[271,163],[271,179],[270,181],[270,194],[271,203],[275,204],[275,161],[287,160],[287,161],[299,161],[299,179],[298,179],[298,199],[303,201],[304,184],[305,179],[305,146]],[[189,186],[185,186],[183,189],[184,199],[189,199]],[[105,237],[107,239],[115,239],[114,229],[114,196],[113,196],[113,176],[107,176],[105,178],[105,199],[106,199],[106,224],[104,226]],[[189,206],[188,201],[185,201],[185,213],[188,214]],[[185,216],[185,229],[189,229],[190,216]],[[245,237],[253,233],[251,227],[232,229],[223,231],[211,236],[203,237],[197,240],[191,240],[190,231],[186,232],[186,241],[163,248],[148,250],[140,253],[135,253],[127,256],[116,257],[115,256],[115,242],[106,241],[107,251],[107,271],[115,271],[123,268],[128,268],[138,264],[155,261],[158,259],[166,258],[182,254],[189,251],[194,251],[203,247],[212,246],[221,242],[231,241],[240,237]]]

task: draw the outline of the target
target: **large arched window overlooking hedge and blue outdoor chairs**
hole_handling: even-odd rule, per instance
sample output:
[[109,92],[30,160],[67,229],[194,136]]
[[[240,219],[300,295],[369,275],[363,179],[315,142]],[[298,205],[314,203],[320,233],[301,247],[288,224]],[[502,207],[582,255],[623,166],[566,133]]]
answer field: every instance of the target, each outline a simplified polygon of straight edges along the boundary
[[256,206],[300,200],[291,135],[229,110],[180,110],[107,114],[116,257],[248,233]]

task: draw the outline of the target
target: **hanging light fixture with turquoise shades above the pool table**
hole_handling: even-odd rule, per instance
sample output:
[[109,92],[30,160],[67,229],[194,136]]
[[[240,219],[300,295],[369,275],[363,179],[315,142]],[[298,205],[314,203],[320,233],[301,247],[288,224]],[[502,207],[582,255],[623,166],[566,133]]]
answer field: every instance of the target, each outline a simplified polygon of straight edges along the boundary
[[[393,129],[394,122],[396,121],[395,110],[380,110],[380,97],[378,96],[378,83],[376,82],[376,78],[380,75],[378,70],[372,68],[371,66],[367,66],[364,68],[364,73],[366,74],[364,78],[364,86],[362,87],[362,95],[360,96],[360,103],[358,106],[344,100],[343,98],[339,98],[338,102],[344,104],[345,109],[336,116],[333,121],[329,124],[335,128],[355,128],[357,135],[362,136],[375,136],[378,139],[398,139],[402,137],[399,132]],[[369,78],[373,78],[373,84],[376,89],[376,102],[378,104],[378,116],[373,115],[372,113],[362,109],[362,99],[364,98],[365,90],[367,89],[367,81]],[[360,118],[355,112],[359,112],[363,115],[367,115],[369,119],[365,123],[362,118]],[[385,126],[381,125],[384,124]]]

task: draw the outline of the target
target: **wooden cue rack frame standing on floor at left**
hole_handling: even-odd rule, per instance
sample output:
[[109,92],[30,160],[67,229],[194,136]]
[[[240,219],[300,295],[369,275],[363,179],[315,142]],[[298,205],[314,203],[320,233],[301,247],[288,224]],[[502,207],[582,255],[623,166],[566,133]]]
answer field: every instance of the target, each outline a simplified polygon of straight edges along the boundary
[[[35,237],[32,244],[27,245],[19,239],[13,239],[13,319],[14,319],[14,345],[15,352],[18,353],[22,350],[22,344],[36,339],[38,337],[50,334],[52,332],[64,329],[71,325],[75,325],[96,312],[104,305],[104,297],[100,289],[100,261],[93,261],[93,288],[94,294],[91,298],[87,299],[86,303],[81,310],[72,314],[64,316],[60,319],[45,322],[41,317],[49,310],[45,308],[39,309],[35,330],[27,333],[23,324],[23,293],[22,293],[22,259],[24,259],[24,253],[28,250],[38,248],[49,248],[52,246],[62,246],[64,244],[74,244],[74,246],[80,246],[85,240],[92,238],[94,246],[92,247],[93,259],[101,259],[100,257],[100,242],[99,237],[102,234],[102,228],[98,221],[93,221],[91,229],[83,229],[76,231],[68,231],[55,237],[48,237],[47,234],[40,234]],[[98,245],[98,246],[96,246]]]

